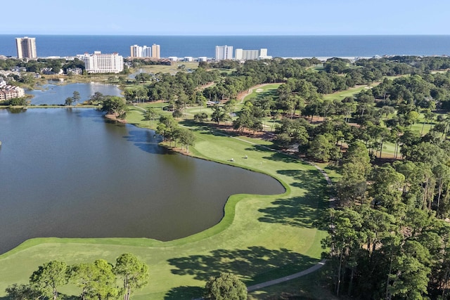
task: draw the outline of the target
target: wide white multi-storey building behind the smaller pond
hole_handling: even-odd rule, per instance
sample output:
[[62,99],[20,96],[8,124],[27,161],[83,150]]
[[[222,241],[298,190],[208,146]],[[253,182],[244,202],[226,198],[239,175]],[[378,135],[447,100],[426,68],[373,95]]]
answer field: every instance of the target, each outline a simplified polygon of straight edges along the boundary
[[84,53],[82,60],[88,73],[119,73],[124,70],[124,58],[119,53],[94,51],[94,54]]

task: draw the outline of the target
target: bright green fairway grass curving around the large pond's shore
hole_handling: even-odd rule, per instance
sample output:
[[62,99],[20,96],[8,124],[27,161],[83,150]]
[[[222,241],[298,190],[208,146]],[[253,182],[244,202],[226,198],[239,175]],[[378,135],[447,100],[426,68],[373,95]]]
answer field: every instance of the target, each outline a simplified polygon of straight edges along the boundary
[[[139,108],[131,107],[128,117],[129,122],[146,126]],[[169,242],[146,238],[28,240],[0,256],[0,297],[8,285],[27,282],[39,265],[52,259],[67,263],[106,259],[113,263],[120,254],[131,252],[150,266],[150,285],[136,292],[133,298],[138,300],[199,297],[205,280],[219,271],[236,273],[253,285],[318,262],[320,240],[326,233],[312,222],[328,207],[326,181],[319,171],[258,145],[270,146],[268,142],[224,137],[203,126],[192,130],[197,142],[191,155],[269,174],[283,183],[286,192],[232,195],[219,224]],[[235,161],[229,162],[230,157]],[[79,293],[72,285],[62,291]]]

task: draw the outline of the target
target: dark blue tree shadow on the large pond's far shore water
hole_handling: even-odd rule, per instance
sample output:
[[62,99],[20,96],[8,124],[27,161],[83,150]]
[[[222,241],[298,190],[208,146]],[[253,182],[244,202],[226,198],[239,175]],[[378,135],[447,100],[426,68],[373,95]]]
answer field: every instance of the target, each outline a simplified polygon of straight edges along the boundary
[[173,151],[158,145],[161,141],[160,136],[155,135],[155,132],[152,130],[131,130],[123,138],[148,153],[162,155],[174,154]]

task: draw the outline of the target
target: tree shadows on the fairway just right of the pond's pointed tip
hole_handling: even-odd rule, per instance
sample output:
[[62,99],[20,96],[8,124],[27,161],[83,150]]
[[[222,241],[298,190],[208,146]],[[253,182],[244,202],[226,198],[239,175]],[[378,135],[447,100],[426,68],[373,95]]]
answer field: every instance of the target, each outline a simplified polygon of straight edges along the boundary
[[295,182],[291,185],[305,190],[305,193],[300,197],[275,200],[272,202],[274,207],[259,209],[264,214],[259,221],[312,228],[319,209],[328,204],[326,201],[328,186],[325,178],[316,170],[283,170],[278,171],[278,174],[295,178]]

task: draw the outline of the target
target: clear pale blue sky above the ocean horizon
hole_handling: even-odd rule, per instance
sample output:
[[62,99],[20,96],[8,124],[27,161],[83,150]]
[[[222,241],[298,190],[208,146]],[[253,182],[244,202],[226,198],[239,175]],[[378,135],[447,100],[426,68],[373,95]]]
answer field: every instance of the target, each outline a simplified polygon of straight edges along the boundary
[[[0,34],[450,34],[446,0],[21,0]],[[5,6],[4,6],[5,8]]]

